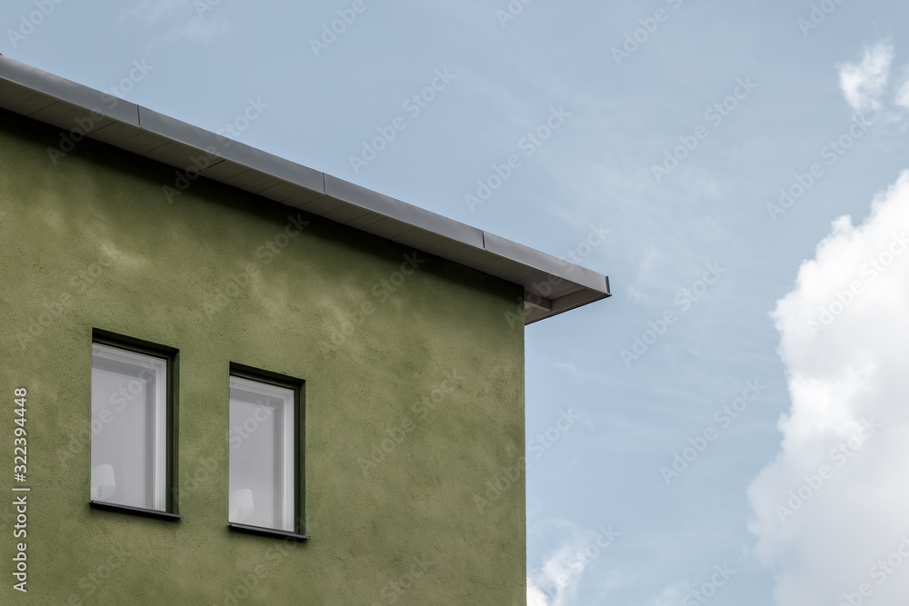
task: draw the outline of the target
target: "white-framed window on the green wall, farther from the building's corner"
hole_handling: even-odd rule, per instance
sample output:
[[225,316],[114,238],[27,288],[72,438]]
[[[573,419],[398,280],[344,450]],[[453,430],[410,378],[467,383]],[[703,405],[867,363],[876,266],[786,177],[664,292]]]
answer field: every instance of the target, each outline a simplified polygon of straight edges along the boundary
[[91,499],[166,512],[172,360],[136,349],[92,346]]

